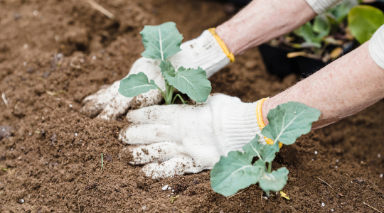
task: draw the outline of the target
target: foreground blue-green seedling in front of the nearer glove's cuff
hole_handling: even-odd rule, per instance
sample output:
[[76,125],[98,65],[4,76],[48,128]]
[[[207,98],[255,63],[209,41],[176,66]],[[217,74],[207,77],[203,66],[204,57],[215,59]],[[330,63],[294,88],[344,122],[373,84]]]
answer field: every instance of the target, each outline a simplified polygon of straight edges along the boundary
[[[250,143],[242,146],[244,152],[231,151],[227,157],[222,156],[210,171],[213,190],[228,197],[257,182],[268,197],[270,191],[282,190],[289,171],[287,168],[272,171],[272,161],[279,152],[277,141],[285,145],[294,143],[299,136],[311,131],[312,123],[319,119],[320,114],[318,109],[299,102],[280,104],[272,109],[267,115],[270,124],[261,133],[271,138],[274,144],[263,145],[258,141],[260,136],[256,135]],[[252,163],[254,157],[258,160]]]

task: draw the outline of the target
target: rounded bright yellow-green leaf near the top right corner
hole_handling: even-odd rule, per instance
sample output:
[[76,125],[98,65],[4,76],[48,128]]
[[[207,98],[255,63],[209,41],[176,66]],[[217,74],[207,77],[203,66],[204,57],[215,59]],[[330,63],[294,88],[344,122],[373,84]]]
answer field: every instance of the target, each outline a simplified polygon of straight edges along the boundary
[[373,6],[355,6],[348,14],[348,27],[359,43],[370,40],[373,33],[384,24],[384,13]]

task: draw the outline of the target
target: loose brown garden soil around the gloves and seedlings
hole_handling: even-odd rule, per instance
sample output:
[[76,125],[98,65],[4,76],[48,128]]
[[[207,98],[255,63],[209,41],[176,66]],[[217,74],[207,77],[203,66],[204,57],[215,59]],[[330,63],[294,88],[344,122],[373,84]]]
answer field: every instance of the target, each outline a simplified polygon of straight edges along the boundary
[[[174,21],[189,40],[230,10],[216,1],[97,2],[118,21],[85,1],[0,0],[0,92],[8,100],[0,102],[0,212],[374,212],[363,202],[384,212],[383,101],[282,148],[273,167],[289,169],[292,200],[261,199],[257,185],[223,197],[211,190],[209,171],[142,177],[117,140],[124,117],[90,119],[79,113],[81,100],[127,75],[144,50],[144,25]],[[70,60],[80,53],[75,69]],[[211,78],[213,92],[244,102],[296,80],[269,75],[257,49]],[[173,204],[163,185],[180,195]]]

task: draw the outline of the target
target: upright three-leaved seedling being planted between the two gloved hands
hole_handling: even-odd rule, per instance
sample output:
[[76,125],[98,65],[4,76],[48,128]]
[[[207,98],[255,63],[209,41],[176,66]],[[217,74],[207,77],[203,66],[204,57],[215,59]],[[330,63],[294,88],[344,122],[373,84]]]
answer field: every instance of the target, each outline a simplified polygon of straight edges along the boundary
[[167,22],[159,26],[144,26],[140,34],[145,48],[142,56],[161,60],[159,67],[165,80],[166,89],[165,91],[161,90],[154,80],[149,81],[144,72],[139,72],[129,75],[120,82],[119,93],[124,97],[135,97],[138,94],[148,92],[150,89],[159,89],[167,105],[174,104],[176,97],[179,97],[181,102],[186,104],[187,102],[179,94],[173,98],[174,88],[176,88],[183,94],[188,94],[188,97],[196,102],[206,102],[212,89],[206,71],[201,67],[197,69],[179,67],[176,72],[171,62],[166,61],[181,51],[180,45],[183,35],[178,32],[176,24]]

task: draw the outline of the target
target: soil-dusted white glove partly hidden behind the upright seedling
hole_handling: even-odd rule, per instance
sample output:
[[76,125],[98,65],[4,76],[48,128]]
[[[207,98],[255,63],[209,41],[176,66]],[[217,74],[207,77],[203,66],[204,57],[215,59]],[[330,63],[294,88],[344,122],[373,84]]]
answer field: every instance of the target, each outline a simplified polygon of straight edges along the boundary
[[[210,77],[230,62],[223,48],[209,31],[204,31],[198,38],[182,43],[180,48],[180,52],[168,59],[176,69],[181,66],[194,69],[201,67]],[[129,75],[144,72],[149,80],[154,80],[160,89],[165,90],[159,64],[159,60],[139,58],[132,65]],[[138,109],[161,102],[162,96],[159,89],[152,89],[137,97],[127,98],[119,94],[119,84],[120,81],[114,82],[107,89],[100,89],[96,94],[86,97],[81,111],[89,116],[99,114],[99,118],[112,120],[127,112],[129,107]]]

